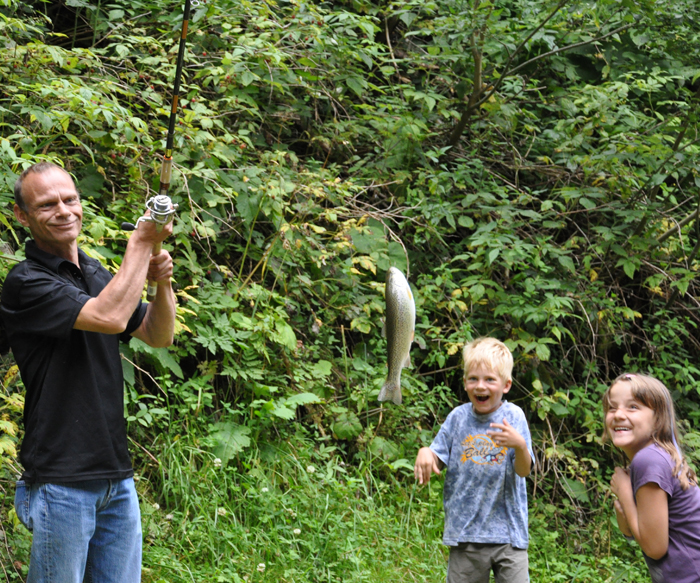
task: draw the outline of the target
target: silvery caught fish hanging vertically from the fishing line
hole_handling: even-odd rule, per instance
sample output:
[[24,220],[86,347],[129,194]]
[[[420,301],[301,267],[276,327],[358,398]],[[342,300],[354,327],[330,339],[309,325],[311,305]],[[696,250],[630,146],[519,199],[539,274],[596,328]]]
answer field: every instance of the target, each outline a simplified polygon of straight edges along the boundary
[[390,267],[386,274],[386,331],[389,374],[378,401],[401,404],[401,369],[411,366],[411,343],[416,331],[416,303],[411,286],[401,271]]

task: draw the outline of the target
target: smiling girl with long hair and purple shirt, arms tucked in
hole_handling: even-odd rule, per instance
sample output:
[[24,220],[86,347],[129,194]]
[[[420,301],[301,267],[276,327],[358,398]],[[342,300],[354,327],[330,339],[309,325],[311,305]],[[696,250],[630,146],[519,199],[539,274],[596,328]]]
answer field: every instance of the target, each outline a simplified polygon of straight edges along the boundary
[[657,379],[624,374],[603,395],[605,433],[631,460],[610,487],[620,530],[642,547],[653,583],[700,583],[700,489]]

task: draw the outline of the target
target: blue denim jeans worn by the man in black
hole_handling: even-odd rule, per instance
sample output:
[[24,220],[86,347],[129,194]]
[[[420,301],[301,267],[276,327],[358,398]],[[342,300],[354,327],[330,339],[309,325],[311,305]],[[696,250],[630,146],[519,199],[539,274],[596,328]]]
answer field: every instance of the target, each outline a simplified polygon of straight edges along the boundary
[[19,481],[15,510],[34,534],[27,583],[141,581],[141,513],[133,478]]

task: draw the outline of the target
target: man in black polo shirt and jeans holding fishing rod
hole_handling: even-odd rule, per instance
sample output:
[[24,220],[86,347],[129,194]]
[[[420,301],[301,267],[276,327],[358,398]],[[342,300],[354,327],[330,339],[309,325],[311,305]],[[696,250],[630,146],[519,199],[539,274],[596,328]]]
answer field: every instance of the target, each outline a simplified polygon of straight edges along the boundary
[[[80,196],[60,166],[41,162],[15,184],[29,229],[26,260],[0,298],[26,387],[24,467],[15,507],[34,533],[28,583],[133,583],[141,577],[141,519],[127,449],[119,341],[173,341],[173,263],[151,257],[171,232],[141,222],[112,277],[77,244]],[[156,298],[141,302],[146,278]]]

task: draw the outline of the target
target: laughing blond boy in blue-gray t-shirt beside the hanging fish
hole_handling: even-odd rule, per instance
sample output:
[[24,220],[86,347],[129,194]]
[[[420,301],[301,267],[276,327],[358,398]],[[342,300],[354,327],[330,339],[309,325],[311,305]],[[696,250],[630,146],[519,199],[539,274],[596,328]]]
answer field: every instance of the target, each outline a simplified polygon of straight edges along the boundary
[[445,531],[447,583],[528,583],[527,490],[530,430],[517,405],[503,400],[512,385],[513,356],[495,338],[464,347],[469,403],[445,419],[430,447],[416,457],[426,484],[447,467]]

